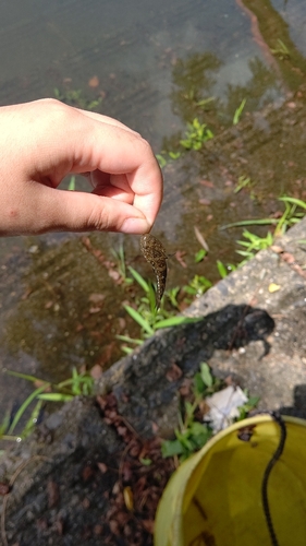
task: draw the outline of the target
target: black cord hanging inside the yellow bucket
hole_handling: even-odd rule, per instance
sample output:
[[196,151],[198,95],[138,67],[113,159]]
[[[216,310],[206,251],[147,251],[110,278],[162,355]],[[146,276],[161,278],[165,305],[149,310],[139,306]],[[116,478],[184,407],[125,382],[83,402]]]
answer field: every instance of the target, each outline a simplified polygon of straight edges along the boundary
[[280,426],[281,436],[280,436],[279,446],[278,446],[276,452],[273,453],[272,458],[270,459],[269,463],[267,464],[267,467],[266,467],[265,473],[264,473],[264,478],[262,478],[262,483],[261,483],[261,500],[262,500],[262,507],[264,507],[264,512],[265,512],[265,518],[266,518],[268,531],[269,531],[270,538],[271,538],[271,544],[272,544],[272,546],[279,546],[279,542],[278,542],[276,531],[273,527],[273,522],[272,522],[270,507],[269,507],[268,480],[269,480],[271,471],[272,471],[276,462],[280,459],[280,456],[283,452],[285,439],[286,439],[286,428],[285,428],[285,423],[282,419],[279,412],[271,412],[270,415],[274,419],[274,422],[278,423],[278,425]]

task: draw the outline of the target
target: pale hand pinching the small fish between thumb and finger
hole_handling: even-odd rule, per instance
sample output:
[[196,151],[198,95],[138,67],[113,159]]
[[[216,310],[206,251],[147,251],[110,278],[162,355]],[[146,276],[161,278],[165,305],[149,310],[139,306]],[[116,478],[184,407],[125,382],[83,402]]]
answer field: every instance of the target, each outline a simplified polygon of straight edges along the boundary
[[[59,190],[69,174],[91,193]],[[138,133],[54,99],[0,108],[0,236],[46,232],[148,233],[162,176]]]

